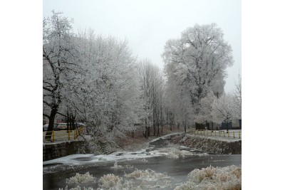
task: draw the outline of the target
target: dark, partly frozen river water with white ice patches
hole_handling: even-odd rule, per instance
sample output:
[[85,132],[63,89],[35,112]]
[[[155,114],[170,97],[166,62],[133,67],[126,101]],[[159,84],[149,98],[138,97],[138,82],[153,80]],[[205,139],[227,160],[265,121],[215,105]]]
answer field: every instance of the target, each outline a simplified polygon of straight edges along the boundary
[[[188,180],[187,174],[194,169],[202,169],[210,165],[212,165],[212,167],[227,167],[242,164],[241,154],[205,154],[187,147],[180,147],[180,150],[184,149],[190,152],[190,155],[171,159],[157,152],[166,145],[167,138],[160,138],[157,139],[157,141],[150,142],[150,147],[140,152],[116,152],[105,159],[103,156],[81,154],[77,157],[76,155],[70,157],[67,162],[61,160],[56,162],[44,162],[43,189],[64,189],[66,185],[68,185],[68,189],[76,186],[81,186],[81,189],[83,189],[83,186],[86,188],[92,186],[93,189],[97,189],[98,180],[104,174],[115,174],[123,177],[123,181],[132,181],[128,179],[125,174],[130,174],[135,171],[135,169],[151,169],[169,176],[167,179],[147,181],[149,186],[156,185],[156,187],[152,189],[175,189],[175,186]],[[117,162],[119,167],[114,168],[115,162]],[[85,184],[66,184],[66,179],[76,176],[76,173],[86,174],[86,172],[89,172],[95,177],[95,183],[91,181]],[[142,180],[133,180],[133,183],[140,185],[142,184]],[[165,183],[170,184],[170,186],[162,187],[162,184]],[[150,187],[142,189],[150,189]]]

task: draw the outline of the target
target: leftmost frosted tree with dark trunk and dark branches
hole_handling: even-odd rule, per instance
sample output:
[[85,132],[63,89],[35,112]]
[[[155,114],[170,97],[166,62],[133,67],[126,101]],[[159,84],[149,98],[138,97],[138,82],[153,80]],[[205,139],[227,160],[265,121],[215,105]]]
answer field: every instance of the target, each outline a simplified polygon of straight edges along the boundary
[[73,46],[72,19],[53,11],[43,19],[43,115],[48,131],[65,100],[65,88],[78,73],[78,51]]

